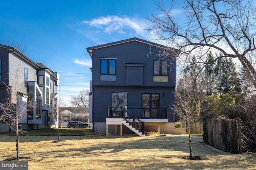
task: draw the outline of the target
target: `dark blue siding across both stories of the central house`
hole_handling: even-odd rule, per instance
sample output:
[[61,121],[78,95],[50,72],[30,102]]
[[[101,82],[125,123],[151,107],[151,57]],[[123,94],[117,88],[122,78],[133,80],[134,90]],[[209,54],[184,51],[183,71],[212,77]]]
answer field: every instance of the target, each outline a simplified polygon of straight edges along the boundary
[[[92,106],[94,133],[106,131],[107,106],[112,106],[112,92],[127,92],[127,108],[137,109],[143,108],[142,94],[159,94],[159,108],[167,108],[168,122],[174,124],[175,114],[170,107],[175,103],[176,59],[174,57],[170,56],[168,59],[168,81],[153,81],[154,61],[160,59],[159,53],[166,50],[166,47],[132,38],[88,47],[87,50],[92,57],[91,96],[93,97],[90,98],[92,100],[90,107]],[[115,81],[100,80],[101,59],[116,59]]]

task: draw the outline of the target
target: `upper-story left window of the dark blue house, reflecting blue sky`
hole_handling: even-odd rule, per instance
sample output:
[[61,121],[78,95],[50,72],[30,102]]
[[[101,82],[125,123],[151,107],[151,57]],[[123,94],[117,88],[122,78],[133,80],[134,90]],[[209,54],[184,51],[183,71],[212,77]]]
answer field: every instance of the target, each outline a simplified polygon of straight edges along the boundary
[[116,81],[116,59],[100,59],[100,81]]

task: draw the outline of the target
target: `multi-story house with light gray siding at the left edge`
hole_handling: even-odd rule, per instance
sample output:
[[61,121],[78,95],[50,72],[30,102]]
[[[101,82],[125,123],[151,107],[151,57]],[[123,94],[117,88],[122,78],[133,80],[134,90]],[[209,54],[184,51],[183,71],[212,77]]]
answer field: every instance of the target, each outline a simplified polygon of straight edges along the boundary
[[[6,87],[11,87],[12,103],[26,109],[22,114],[23,128],[46,128],[53,124],[54,108],[57,105],[59,74],[42,63],[34,63],[17,49],[0,44],[0,103],[7,100]],[[14,91],[15,90],[15,91]],[[24,112],[24,111],[22,111]],[[0,113],[1,114],[1,113]],[[0,122],[0,131],[9,127]]]

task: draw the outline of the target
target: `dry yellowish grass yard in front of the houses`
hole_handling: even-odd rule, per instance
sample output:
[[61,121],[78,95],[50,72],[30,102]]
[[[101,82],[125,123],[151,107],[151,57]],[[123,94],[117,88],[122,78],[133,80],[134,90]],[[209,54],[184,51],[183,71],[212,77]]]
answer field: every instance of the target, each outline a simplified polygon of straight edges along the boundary
[[[220,153],[192,136],[192,153],[204,160],[184,160],[189,155],[188,135],[146,137],[94,134],[91,129],[30,130],[20,135],[20,156],[30,157],[29,170],[255,170],[256,153]],[[16,156],[14,133],[0,133],[0,160]]]

